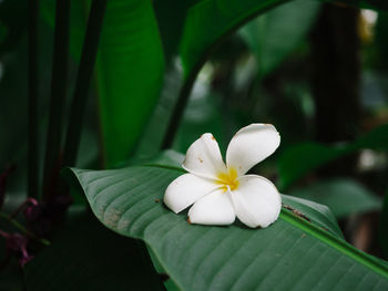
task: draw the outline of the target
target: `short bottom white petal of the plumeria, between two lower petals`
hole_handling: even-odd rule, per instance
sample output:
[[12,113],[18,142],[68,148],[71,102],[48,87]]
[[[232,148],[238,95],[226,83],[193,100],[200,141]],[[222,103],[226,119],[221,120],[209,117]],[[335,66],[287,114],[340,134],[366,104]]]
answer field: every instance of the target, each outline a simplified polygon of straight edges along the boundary
[[235,214],[229,193],[215,190],[197,200],[188,210],[191,224],[225,226],[232,225]]

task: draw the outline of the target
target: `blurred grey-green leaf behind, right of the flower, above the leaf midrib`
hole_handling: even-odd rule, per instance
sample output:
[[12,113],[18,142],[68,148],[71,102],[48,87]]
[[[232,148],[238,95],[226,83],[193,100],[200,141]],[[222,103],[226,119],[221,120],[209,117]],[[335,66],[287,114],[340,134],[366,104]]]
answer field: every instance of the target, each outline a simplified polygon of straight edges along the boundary
[[289,195],[326,205],[337,218],[378,210],[381,207],[378,196],[351,179],[321,181],[295,189]]

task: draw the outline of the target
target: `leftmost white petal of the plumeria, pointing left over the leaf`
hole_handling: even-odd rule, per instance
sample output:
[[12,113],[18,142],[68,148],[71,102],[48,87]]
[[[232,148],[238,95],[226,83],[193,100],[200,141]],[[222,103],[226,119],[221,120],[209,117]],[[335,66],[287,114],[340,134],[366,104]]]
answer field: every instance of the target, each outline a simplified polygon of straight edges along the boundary
[[163,200],[171,210],[177,214],[216,188],[219,188],[219,185],[212,180],[184,174],[169,185]]

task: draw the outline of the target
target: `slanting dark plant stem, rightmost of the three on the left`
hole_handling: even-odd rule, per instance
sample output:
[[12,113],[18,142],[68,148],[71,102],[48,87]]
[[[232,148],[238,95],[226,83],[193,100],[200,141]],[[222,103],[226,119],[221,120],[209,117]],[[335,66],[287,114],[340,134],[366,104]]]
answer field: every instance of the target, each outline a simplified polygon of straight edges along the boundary
[[64,166],[73,166],[76,159],[76,153],[81,139],[81,124],[85,112],[89,87],[93,75],[105,9],[106,0],[93,0],[89,13],[80,67],[76,75],[74,97],[71,104],[63,156]]

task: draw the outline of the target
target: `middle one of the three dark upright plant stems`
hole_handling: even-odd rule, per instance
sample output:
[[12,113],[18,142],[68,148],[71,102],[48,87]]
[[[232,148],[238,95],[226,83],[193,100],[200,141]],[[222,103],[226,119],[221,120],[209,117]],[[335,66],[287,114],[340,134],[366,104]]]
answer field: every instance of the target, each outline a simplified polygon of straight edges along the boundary
[[68,85],[70,0],[57,0],[50,119],[45,145],[43,198],[53,194],[59,179],[62,113]]

